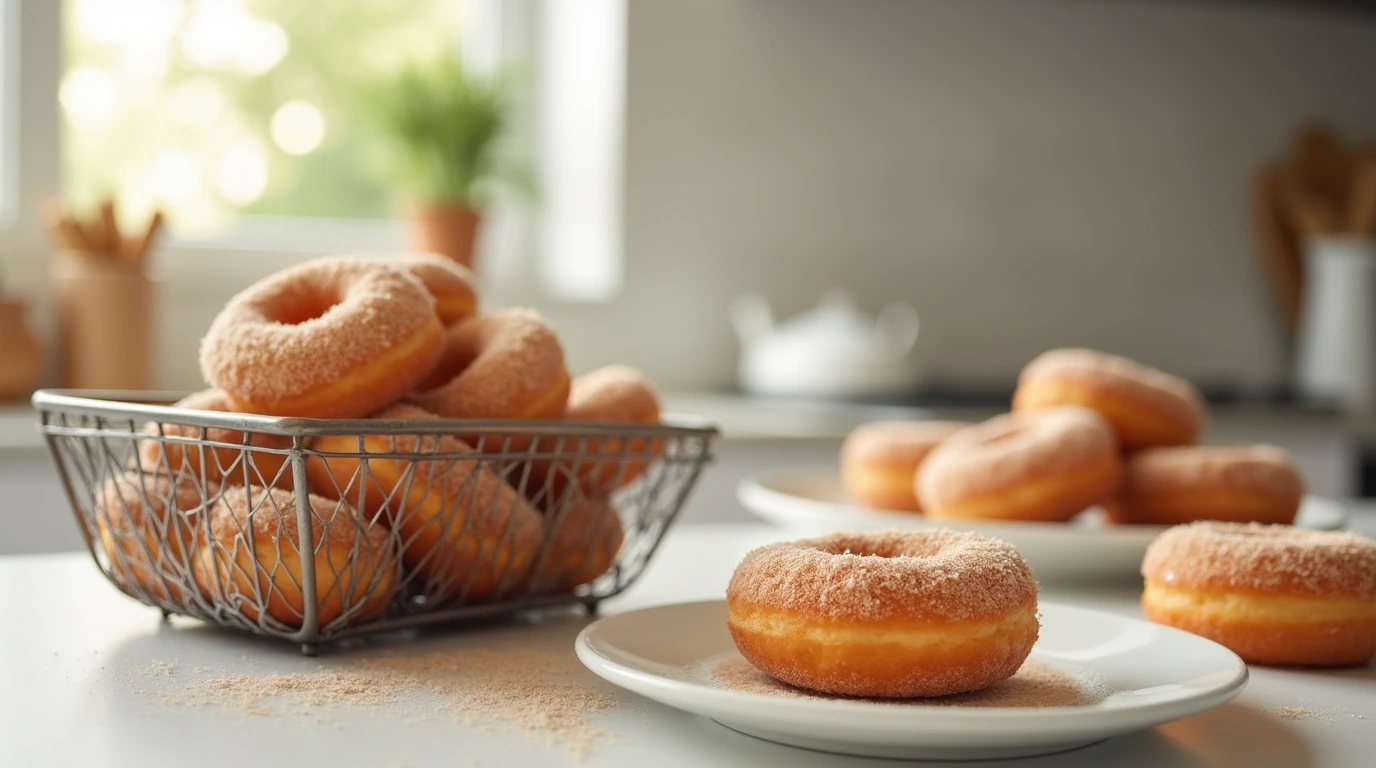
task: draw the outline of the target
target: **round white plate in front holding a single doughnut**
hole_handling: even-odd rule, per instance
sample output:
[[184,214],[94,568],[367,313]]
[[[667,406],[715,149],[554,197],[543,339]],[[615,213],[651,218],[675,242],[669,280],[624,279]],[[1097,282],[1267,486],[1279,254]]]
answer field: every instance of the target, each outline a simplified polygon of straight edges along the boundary
[[1227,702],[1247,665],[1186,632],[1087,608],[1047,604],[1032,659],[1091,677],[1098,703],[962,707],[757,694],[713,683],[714,663],[739,658],[727,603],[680,603],[612,615],[578,634],[597,676],[663,705],[784,745],[921,760],[1050,754],[1152,728]]

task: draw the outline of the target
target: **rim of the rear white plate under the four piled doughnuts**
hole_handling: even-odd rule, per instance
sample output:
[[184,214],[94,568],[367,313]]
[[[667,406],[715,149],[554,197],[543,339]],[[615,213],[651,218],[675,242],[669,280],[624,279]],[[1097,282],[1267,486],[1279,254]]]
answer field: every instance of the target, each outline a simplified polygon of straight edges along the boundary
[[[760,506],[772,506],[776,502],[787,502],[794,505],[804,505],[812,508],[816,515],[809,518],[808,522],[821,522],[821,516],[835,518],[837,523],[842,520],[839,515],[846,515],[854,518],[856,520],[863,520],[866,523],[885,523],[893,522],[899,524],[905,520],[911,524],[912,518],[916,518],[923,526],[927,527],[943,527],[948,524],[960,526],[967,530],[974,531],[993,531],[991,535],[998,535],[998,529],[1015,529],[1024,534],[1075,534],[1075,535],[1093,535],[1095,538],[1112,540],[1117,544],[1145,544],[1149,538],[1156,538],[1161,533],[1165,533],[1171,526],[1156,526],[1156,524],[1130,524],[1130,526],[1104,526],[1099,529],[1080,529],[1072,527],[1066,529],[1065,523],[1047,523],[1039,520],[984,520],[984,519],[960,519],[960,520],[934,520],[926,518],[921,513],[903,512],[900,509],[871,509],[861,506],[859,504],[839,504],[835,501],[826,501],[819,498],[809,498],[805,495],[795,495],[775,487],[771,487],[766,480],[772,476],[826,476],[827,479],[837,480],[839,483],[841,471],[832,465],[821,464],[808,464],[797,467],[776,467],[772,469],[762,469],[760,472],[753,472],[746,478],[742,478],[736,483],[736,501],[749,509],[753,515],[764,518],[768,522],[773,522],[771,513],[761,513]],[[1351,519],[1351,511],[1337,498],[1306,493],[1304,500],[1314,500],[1325,506],[1329,506],[1336,513],[1336,522],[1331,529],[1315,529],[1315,530],[1343,530]],[[1302,502],[1303,504],[1303,502]]]

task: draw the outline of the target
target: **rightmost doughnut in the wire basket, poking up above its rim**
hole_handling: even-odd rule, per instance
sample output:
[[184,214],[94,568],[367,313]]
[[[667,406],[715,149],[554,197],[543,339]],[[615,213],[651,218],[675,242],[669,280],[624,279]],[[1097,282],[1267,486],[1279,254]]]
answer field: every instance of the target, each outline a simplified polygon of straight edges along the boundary
[[[574,378],[568,390],[567,421],[607,424],[659,424],[659,394],[638,370],[623,365],[600,367]],[[531,478],[526,487],[539,493],[546,484],[548,495],[563,495],[567,480],[577,478],[585,495],[605,497],[640,478],[648,458],[665,450],[665,442],[654,438],[544,438],[537,442],[539,453],[570,453],[567,460],[533,461]],[[596,458],[588,458],[589,454]],[[634,457],[634,458],[632,458]],[[560,465],[568,472],[553,472]]]

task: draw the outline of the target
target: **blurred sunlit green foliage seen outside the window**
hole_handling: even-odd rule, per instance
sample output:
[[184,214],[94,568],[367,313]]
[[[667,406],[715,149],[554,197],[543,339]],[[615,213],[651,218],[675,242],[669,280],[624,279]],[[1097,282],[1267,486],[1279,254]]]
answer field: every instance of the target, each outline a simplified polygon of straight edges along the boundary
[[[380,179],[391,176],[392,161],[374,124],[359,118],[358,96],[378,73],[453,55],[464,23],[460,0],[242,0],[241,7],[228,0],[235,14],[259,26],[277,25],[289,41],[279,61],[253,73],[246,66],[206,66],[189,55],[195,40],[189,30],[215,0],[142,0],[139,8],[116,8],[127,15],[164,14],[171,21],[158,33],[162,37],[132,23],[124,25],[128,33],[94,26],[107,15],[91,17],[92,8],[100,10],[98,1],[66,0],[65,7],[67,72],[94,70],[98,84],[107,76],[114,94],[113,107],[99,121],[65,110],[67,197],[83,206],[116,191],[127,213],[162,206],[173,226],[184,224],[183,231],[213,228],[235,211],[389,216],[399,195]],[[213,34],[213,25],[206,26]],[[215,96],[213,120],[193,118],[194,110],[178,100],[178,94],[190,91],[182,88],[187,84]],[[319,110],[325,135],[314,150],[293,156],[274,143],[271,118],[297,99]],[[244,146],[255,157],[266,156],[267,182],[252,195],[256,200],[235,204],[216,184],[216,172],[233,173],[234,168],[224,171],[233,164],[226,157],[242,151],[227,154],[228,147]],[[173,150],[178,156],[168,161]],[[150,168],[165,172],[158,176]]]

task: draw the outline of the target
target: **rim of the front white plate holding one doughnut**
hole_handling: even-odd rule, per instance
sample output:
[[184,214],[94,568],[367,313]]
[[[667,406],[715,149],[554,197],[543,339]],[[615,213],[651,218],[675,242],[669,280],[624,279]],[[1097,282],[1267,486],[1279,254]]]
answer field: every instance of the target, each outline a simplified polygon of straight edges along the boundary
[[[688,607],[706,606],[706,604],[725,604],[725,599],[665,603],[659,606],[647,606],[633,611],[603,617],[596,622],[585,626],[578,633],[578,637],[574,640],[574,651],[578,655],[578,659],[583,663],[583,666],[586,666],[590,672],[593,672],[599,677],[603,677],[604,680],[608,680],[610,683],[616,684],[618,687],[625,688],[625,685],[621,685],[612,677],[603,674],[601,670],[608,670],[615,673],[616,676],[637,680],[641,684],[647,685],[648,688],[665,691],[666,694],[671,695],[684,694],[685,691],[681,690],[682,687],[688,687],[689,691],[687,692],[689,694],[705,691],[707,692],[707,695],[717,698],[722,703],[736,705],[738,709],[750,705],[760,705],[761,702],[769,702],[769,706],[776,707],[776,712],[780,712],[780,714],[806,714],[808,718],[843,713],[846,716],[874,714],[874,716],[882,716],[885,720],[897,720],[903,717],[912,717],[915,714],[921,714],[921,717],[926,721],[922,724],[923,731],[927,729],[930,724],[940,724],[941,728],[969,727],[969,729],[984,729],[984,728],[976,728],[976,725],[989,724],[989,723],[998,723],[998,725],[1004,728],[1021,727],[1021,728],[1036,729],[1036,732],[1042,735],[1053,735],[1053,732],[1047,731],[1049,725],[1053,728],[1058,728],[1057,731],[1054,731],[1054,734],[1064,734],[1065,732],[1064,728],[1066,727],[1072,728],[1077,727],[1080,731],[1086,728],[1083,718],[1087,714],[1086,710],[1090,707],[1086,707],[1083,705],[1050,706],[1050,707],[978,707],[978,710],[973,710],[970,707],[933,706],[933,707],[923,707],[921,710],[912,710],[912,709],[893,707],[892,705],[882,702],[845,701],[845,699],[835,699],[835,701],[806,699],[806,698],[791,699],[784,696],[772,696],[768,694],[754,694],[749,691],[731,691],[725,688],[714,688],[702,683],[695,683],[691,680],[673,680],[669,677],[663,677],[660,674],[626,666],[625,663],[604,655],[597,650],[597,647],[594,647],[590,643],[592,634],[596,633],[597,628],[600,628],[607,621],[622,617],[632,617],[634,614],[641,614],[648,611],[673,610],[673,608],[682,610]],[[1182,634],[1189,637],[1192,641],[1212,644],[1218,650],[1232,657],[1230,662],[1233,665],[1233,669],[1229,680],[1219,683],[1218,687],[1215,688],[1200,691],[1181,699],[1094,710],[1093,713],[1094,724],[1091,724],[1090,728],[1095,729],[1095,732],[1116,731],[1123,727],[1138,727],[1139,723],[1143,723],[1146,720],[1150,720],[1152,724],[1161,724],[1178,720],[1181,717],[1187,717],[1190,714],[1197,714],[1208,709],[1214,709],[1215,706],[1221,706],[1234,699],[1238,694],[1243,692],[1244,688],[1247,688],[1248,681],[1251,680],[1251,670],[1237,654],[1234,654],[1233,651],[1227,650],[1223,646],[1219,646],[1218,643],[1214,643],[1212,640],[1208,640],[1207,637],[1200,637],[1197,634],[1192,634],[1189,632],[1175,629],[1171,626],[1148,622],[1146,619],[1141,618],[1123,617],[1108,611],[1073,606],[1069,603],[1061,603],[1055,600],[1039,601],[1038,604],[1039,612],[1047,608],[1054,611],[1065,610],[1071,612],[1090,612],[1099,617],[1108,617],[1115,621],[1130,622],[1130,623],[1145,623],[1167,634],[1172,633]],[[594,658],[596,662],[590,661],[589,657]],[[627,690],[638,695],[644,695],[632,688]],[[716,720],[714,716],[703,714],[700,710],[689,710],[666,702],[660,703],[665,703],[665,706],[673,706],[674,709],[680,709],[682,712],[692,712],[694,714],[700,714],[703,717]],[[1179,713],[1181,707],[1185,707],[1187,712]],[[1159,716],[1163,712],[1171,712],[1172,714],[1170,717],[1160,718]],[[897,714],[896,717],[896,713],[903,713],[903,714]],[[1146,728],[1150,725],[1141,725],[1141,727]],[[886,727],[879,729],[886,729]]]

